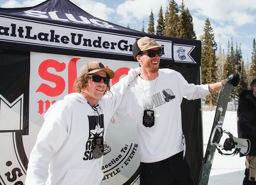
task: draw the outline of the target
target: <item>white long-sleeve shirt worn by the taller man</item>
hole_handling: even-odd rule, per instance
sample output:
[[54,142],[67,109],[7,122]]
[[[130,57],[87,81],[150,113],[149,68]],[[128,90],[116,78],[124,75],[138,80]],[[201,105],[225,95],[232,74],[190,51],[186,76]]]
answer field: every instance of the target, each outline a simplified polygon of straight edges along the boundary
[[[131,117],[138,128],[141,161],[154,163],[184,149],[180,110],[184,96],[194,100],[207,94],[207,86],[188,84],[177,71],[160,69],[154,80],[137,77],[131,82],[111,121]],[[145,110],[154,111],[154,126],[150,128],[143,125]]]

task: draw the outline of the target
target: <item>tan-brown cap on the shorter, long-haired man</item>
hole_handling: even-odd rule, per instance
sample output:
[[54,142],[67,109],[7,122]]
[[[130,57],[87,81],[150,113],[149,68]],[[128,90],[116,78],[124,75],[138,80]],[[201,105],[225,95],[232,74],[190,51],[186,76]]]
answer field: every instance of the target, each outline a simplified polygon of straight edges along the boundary
[[102,63],[97,61],[92,61],[88,62],[87,64],[84,64],[80,69],[79,76],[81,77],[84,74],[93,74],[97,71],[105,71],[110,79],[115,77],[114,71],[105,68],[105,66]]

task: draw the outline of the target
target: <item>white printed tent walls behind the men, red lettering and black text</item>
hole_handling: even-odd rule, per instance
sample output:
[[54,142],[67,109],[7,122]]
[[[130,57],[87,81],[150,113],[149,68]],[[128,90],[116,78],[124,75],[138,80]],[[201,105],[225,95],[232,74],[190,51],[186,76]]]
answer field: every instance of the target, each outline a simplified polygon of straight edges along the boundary
[[[72,93],[74,79],[79,73],[79,68],[88,61],[100,61],[106,67],[115,71],[116,76],[112,84],[118,82],[126,75],[130,68],[138,67],[134,61],[114,61],[109,59],[64,56],[56,54],[43,54],[31,52],[30,56],[30,84],[29,84],[29,135],[23,135],[24,151],[29,159],[29,154],[35,145],[38,131],[44,122],[44,114],[53,103]],[[5,131],[22,129],[22,96],[13,103],[0,97],[0,129]],[[6,117],[7,116],[7,117]],[[9,120],[10,124],[2,124]],[[23,128],[24,129],[24,128]],[[25,167],[20,162],[19,148],[15,132],[1,133],[0,142],[0,185],[24,184],[26,178]],[[126,118],[119,124],[109,124],[106,148],[104,149],[103,184],[124,184],[129,181],[139,184],[138,167],[140,159],[138,154],[138,136],[136,124]],[[4,179],[6,178],[6,179]]]

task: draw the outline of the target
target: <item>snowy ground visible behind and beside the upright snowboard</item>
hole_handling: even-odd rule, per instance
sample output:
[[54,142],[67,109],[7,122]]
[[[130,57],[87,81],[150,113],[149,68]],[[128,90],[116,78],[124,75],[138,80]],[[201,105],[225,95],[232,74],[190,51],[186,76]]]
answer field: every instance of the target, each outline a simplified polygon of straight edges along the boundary
[[[214,111],[203,111],[203,128],[204,128],[204,151],[207,147],[209,135],[211,133],[212,122],[214,119]],[[236,111],[227,111],[223,124],[223,129],[229,131],[237,137],[237,115]],[[223,140],[227,135],[223,135]],[[223,141],[221,139],[221,144]],[[232,157],[221,156],[218,151],[215,152],[214,161],[208,185],[225,184],[225,185],[241,185],[244,177],[244,157],[239,155]]]

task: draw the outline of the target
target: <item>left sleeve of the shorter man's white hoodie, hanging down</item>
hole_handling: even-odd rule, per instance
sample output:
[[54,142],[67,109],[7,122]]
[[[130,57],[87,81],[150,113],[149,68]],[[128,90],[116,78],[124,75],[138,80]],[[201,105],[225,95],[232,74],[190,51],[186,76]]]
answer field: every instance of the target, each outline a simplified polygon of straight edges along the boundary
[[26,185],[45,184],[48,178],[52,154],[60,149],[67,138],[67,109],[61,110],[63,103],[57,102],[45,115],[45,122],[38,133],[36,145],[31,151],[26,175]]

